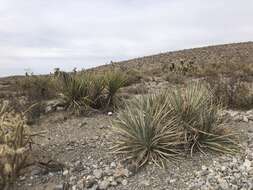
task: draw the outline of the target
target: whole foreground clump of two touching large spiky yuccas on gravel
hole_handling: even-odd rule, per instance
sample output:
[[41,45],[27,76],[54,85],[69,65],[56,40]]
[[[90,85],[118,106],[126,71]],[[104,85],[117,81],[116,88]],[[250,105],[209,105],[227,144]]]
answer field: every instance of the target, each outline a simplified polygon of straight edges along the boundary
[[219,125],[219,108],[200,84],[135,99],[114,122],[115,153],[139,167],[148,161],[164,166],[196,151],[233,154],[238,151],[235,135]]

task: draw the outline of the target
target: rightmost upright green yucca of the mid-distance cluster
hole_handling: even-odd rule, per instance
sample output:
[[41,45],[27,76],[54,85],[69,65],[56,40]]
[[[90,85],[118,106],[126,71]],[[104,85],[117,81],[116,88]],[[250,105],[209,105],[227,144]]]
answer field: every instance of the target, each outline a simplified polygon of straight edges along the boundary
[[115,103],[116,93],[125,86],[127,77],[123,72],[110,71],[106,74],[107,105]]

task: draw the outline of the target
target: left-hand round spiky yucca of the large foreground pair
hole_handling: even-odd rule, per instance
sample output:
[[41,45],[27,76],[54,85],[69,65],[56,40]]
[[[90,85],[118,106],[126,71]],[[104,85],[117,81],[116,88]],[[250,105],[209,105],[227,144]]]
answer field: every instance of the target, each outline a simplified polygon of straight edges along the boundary
[[113,126],[118,140],[113,150],[133,159],[138,167],[148,161],[165,167],[180,154],[182,133],[171,110],[157,95],[136,98],[118,114]]

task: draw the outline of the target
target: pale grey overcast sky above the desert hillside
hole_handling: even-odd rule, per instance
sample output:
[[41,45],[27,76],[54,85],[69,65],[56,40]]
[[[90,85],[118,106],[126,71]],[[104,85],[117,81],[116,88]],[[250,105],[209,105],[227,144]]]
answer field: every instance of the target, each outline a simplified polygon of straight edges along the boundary
[[253,0],[0,0],[0,76],[252,41]]

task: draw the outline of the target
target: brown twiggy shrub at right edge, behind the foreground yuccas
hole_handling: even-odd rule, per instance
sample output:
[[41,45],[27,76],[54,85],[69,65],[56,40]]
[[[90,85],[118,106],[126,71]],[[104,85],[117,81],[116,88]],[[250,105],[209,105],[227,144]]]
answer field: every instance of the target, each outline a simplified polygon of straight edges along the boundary
[[213,89],[216,102],[221,102],[227,108],[250,109],[253,107],[253,94],[249,84],[242,79],[219,76],[206,78],[206,82]]

